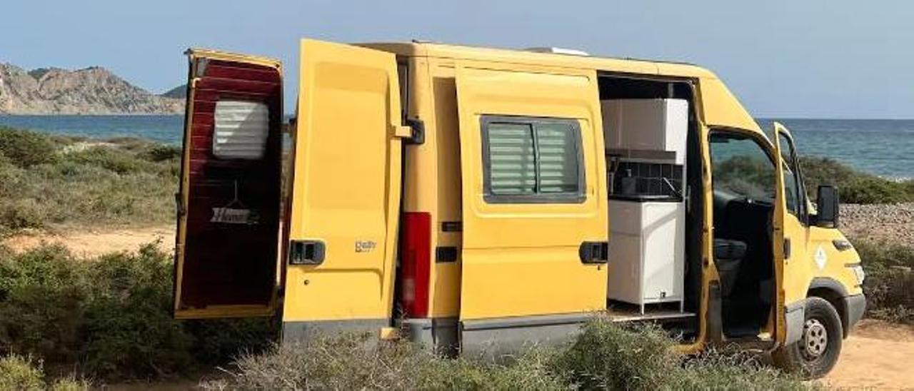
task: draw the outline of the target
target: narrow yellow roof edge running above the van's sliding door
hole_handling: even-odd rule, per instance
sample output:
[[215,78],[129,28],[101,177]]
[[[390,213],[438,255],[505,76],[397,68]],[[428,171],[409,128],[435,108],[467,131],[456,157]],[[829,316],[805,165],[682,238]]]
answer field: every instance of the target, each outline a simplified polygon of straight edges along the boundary
[[711,71],[694,64],[640,58],[610,58],[548,53],[523,49],[484,48],[448,45],[426,41],[379,42],[358,44],[410,57],[461,58],[547,65],[567,68],[597,69],[610,72],[637,73],[677,78],[702,79],[717,77]]

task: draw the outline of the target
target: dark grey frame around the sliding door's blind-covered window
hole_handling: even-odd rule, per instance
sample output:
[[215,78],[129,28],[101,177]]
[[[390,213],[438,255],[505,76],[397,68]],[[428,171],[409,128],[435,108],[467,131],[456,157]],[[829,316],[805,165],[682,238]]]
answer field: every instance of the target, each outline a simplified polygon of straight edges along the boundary
[[[534,164],[536,170],[536,186],[533,194],[526,195],[497,195],[492,192],[492,153],[489,150],[489,125],[492,123],[511,123],[530,127],[533,136]],[[571,130],[571,138],[577,159],[578,189],[574,192],[540,193],[539,192],[539,153],[537,144],[537,126],[543,124],[566,125]],[[531,117],[521,115],[494,115],[480,116],[480,131],[482,135],[483,155],[483,199],[488,204],[582,204],[587,200],[587,174],[584,167],[584,153],[581,137],[580,122],[574,118],[558,117]]]

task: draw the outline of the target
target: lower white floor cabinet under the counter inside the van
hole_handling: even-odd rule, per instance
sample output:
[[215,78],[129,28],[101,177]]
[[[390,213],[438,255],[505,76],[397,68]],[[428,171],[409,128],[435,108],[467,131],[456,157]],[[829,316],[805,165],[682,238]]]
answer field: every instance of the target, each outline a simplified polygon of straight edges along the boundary
[[641,306],[677,301],[685,284],[685,205],[610,200],[607,297]]

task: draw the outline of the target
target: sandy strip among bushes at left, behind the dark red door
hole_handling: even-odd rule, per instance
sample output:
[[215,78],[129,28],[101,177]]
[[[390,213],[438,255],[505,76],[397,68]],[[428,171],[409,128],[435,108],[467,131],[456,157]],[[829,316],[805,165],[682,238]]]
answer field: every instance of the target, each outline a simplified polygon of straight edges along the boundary
[[14,251],[34,248],[41,243],[61,243],[75,255],[93,257],[109,252],[135,251],[140,246],[158,242],[164,251],[175,247],[175,225],[130,228],[65,228],[54,233],[33,231],[4,239],[4,244]]

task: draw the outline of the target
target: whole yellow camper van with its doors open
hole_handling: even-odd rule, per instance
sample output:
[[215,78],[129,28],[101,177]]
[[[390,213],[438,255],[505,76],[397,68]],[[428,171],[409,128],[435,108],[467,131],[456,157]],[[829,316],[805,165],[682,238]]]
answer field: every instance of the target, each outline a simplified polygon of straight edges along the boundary
[[303,39],[284,113],[280,61],[187,54],[176,318],[465,354],[605,316],[820,376],[863,315],[836,189],[706,69]]

